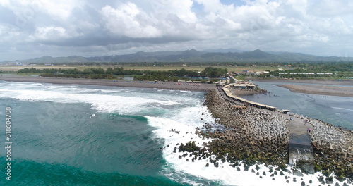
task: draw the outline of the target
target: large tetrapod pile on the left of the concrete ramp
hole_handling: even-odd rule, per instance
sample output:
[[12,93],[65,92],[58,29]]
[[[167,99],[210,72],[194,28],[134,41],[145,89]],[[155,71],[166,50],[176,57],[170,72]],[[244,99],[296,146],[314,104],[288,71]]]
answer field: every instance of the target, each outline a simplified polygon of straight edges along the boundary
[[253,107],[239,109],[225,101],[217,89],[206,94],[205,104],[226,128],[225,132],[205,134],[214,139],[208,148],[218,159],[274,166],[288,163],[289,131],[287,119],[280,113]]

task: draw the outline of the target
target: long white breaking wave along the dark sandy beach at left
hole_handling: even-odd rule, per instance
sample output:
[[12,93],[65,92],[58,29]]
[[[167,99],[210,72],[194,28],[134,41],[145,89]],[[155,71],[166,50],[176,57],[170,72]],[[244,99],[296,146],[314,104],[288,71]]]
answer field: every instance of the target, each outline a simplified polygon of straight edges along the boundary
[[[11,86],[0,87],[0,97],[13,98],[21,101],[53,101],[58,103],[91,104],[92,109],[108,113],[131,114],[143,111],[149,106],[170,106],[179,104],[177,101],[162,101],[140,97],[129,97],[111,94],[87,94],[84,92],[98,92],[99,89],[80,89],[78,87],[49,86],[49,89],[37,89],[33,85],[13,83]],[[6,87],[6,89],[4,89]],[[97,91],[96,91],[97,90]]]

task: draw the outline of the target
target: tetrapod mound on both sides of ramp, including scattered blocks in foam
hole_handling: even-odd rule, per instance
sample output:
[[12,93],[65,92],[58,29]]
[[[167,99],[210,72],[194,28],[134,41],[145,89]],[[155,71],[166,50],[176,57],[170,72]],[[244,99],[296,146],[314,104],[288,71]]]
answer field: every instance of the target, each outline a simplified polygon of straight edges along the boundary
[[[299,118],[306,120],[308,124],[307,134],[315,153],[315,171],[322,171],[325,175],[325,177],[321,175],[318,181],[323,185],[333,184],[333,176],[335,176],[340,182],[344,180],[348,184],[352,182],[353,132],[351,130],[337,128],[321,120],[297,114],[294,115],[293,120],[292,118],[289,120],[289,116],[277,111],[257,109],[229,101],[222,97],[220,91],[222,90],[211,89],[205,95],[205,105],[208,106],[213,117],[217,118],[215,123],[206,123],[202,129],[197,128],[196,130],[196,134],[210,137],[213,140],[205,144],[204,147],[198,147],[195,142],[177,144],[179,152],[189,152],[189,154],[179,156],[180,159],[188,155],[192,162],[208,159],[209,163],[205,164],[206,167],[218,167],[220,161],[227,161],[238,171],[241,171],[240,161],[243,161],[244,171],[250,171],[249,166],[253,164],[265,163],[269,167],[277,166],[276,171],[282,170],[290,175],[292,173],[287,170],[289,129],[292,128],[291,131],[297,129],[294,126],[294,121]],[[303,132],[301,135],[306,134]],[[177,151],[177,147],[174,148],[174,152]],[[297,165],[292,169],[293,175],[301,177],[303,174],[297,171],[298,166],[301,167]],[[272,171],[270,168],[269,173]],[[270,176],[277,175],[276,171]],[[280,171],[280,175],[284,175],[282,171]],[[255,170],[251,170],[251,172],[254,173]],[[331,173],[335,173],[335,175]],[[301,179],[301,181],[303,180]],[[293,178],[293,182],[299,182],[299,180]]]

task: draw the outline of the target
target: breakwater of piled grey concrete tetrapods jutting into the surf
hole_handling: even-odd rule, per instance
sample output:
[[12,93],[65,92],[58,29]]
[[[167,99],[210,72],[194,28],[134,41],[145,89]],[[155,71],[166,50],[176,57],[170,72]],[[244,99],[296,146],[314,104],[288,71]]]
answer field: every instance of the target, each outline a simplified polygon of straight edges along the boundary
[[[293,120],[289,120],[290,116],[277,111],[243,104],[235,105],[229,99],[222,97],[222,93],[217,89],[210,90],[206,94],[205,104],[215,118],[220,118],[218,122],[225,126],[224,132],[207,134],[214,139],[208,143],[210,152],[216,154],[222,161],[244,160],[249,163],[257,162],[284,167],[284,163],[289,164],[289,146],[292,143],[293,151],[302,149],[297,153],[299,156],[292,156],[292,159],[299,160],[292,164],[301,167],[302,171],[322,172],[326,177],[318,178],[322,183],[332,182],[333,177],[340,181],[344,181],[345,178],[352,180],[353,135],[351,130],[337,128],[312,118],[294,115]],[[307,120],[306,125],[303,120]],[[300,130],[303,127],[311,130],[307,132],[305,129],[304,132],[298,132],[295,131],[298,130],[296,125],[301,125]],[[291,137],[289,132],[291,130],[293,133],[301,134],[297,137],[305,136],[306,140],[312,141],[313,151],[308,145],[309,142],[304,144],[295,142],[295,136]],[[289,142],[289,139],[294,139],[294,142]],[[350,182],[349,179],[347,183]]]

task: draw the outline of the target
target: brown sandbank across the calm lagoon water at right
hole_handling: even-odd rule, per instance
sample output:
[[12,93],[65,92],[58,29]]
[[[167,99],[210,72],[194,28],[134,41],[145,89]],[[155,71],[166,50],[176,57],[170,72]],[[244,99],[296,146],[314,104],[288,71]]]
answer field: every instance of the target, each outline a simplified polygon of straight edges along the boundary
[[291,92],[306,94],[322,94],[338,97],[353,97],[353,87],[328,86],[328,85],[277,85],[289,89]]

